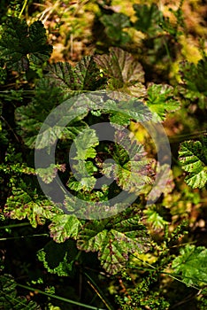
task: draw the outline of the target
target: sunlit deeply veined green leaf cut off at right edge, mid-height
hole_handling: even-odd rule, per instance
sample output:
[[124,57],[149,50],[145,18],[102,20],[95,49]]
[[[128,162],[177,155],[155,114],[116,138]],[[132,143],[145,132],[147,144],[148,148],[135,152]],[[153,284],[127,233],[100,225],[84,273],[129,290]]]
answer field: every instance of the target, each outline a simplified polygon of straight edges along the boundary
[[202,189],[207,182],[207,137],[201,141],[180,143],[179,160],[181,167],[188,172],[187,184],[193,189]]

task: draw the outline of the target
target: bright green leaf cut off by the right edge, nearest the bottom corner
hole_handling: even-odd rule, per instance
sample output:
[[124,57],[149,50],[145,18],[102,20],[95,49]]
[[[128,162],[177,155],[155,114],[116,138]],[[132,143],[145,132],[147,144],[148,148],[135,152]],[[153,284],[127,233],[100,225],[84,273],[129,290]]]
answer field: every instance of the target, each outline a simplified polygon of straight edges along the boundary
[[187,285],[206,285],[207,249],[204,246],[187,244],[173,260],[172,268]]

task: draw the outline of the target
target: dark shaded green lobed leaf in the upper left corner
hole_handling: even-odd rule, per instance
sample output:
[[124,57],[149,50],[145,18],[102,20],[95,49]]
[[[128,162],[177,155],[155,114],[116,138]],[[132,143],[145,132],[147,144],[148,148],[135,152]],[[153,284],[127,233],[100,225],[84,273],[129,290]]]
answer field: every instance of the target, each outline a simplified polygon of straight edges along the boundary
[[40,20],[30,27],[17,17],[8,17],[0,39],[0,58],[19,71],[26,71],[29,62],[40,65],[50,58],[52,46],[47,44],[46,30]]

